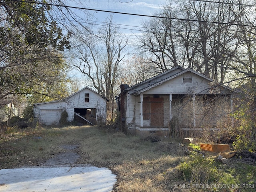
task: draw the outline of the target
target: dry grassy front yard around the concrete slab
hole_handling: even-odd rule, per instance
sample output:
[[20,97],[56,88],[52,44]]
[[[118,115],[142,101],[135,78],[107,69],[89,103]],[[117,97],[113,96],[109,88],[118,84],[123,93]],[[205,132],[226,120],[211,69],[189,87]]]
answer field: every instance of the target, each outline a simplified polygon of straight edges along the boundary
[[[200,180],[212,182],[208,177],[213,174],[217,174],[213,176],[215,183],[220,180],[218,174],[222,177],[221,182],[227,178],[230,183],[254,184],[256,178],[255,166],[248,168],[252,178],[242,181],[236,178],[244,174],[237,172],[236,164],[224,166],[212,158],[186,156],[187,148],[174,140],[162,138],[161,142],[150,142],[138,136],[107,132],[96,126],[10,130],[8,134],[1,134],[1,169],[40,166],[53,155],[63,152],[63,145],[79,146],[77,164],[110,168],[117,175],[114,191],[118,192],[188,191],[182,187],[176,189],[174,184],[184,186]],[[226,175],[220,169],[222,172],[226,170]],[[209,189],[191,188],[190,191]]]

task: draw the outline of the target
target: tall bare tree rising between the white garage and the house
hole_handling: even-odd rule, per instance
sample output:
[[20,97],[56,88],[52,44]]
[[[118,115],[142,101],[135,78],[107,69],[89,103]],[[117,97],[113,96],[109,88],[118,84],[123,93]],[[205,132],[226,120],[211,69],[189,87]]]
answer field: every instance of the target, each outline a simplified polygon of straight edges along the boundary
[[123,52],[128,40],[118,31],[112,16],[106,18],[105,24],[96,35],[76,32],[78,41],[74,45],[74,55],[78,61],[73,65],[90,79],[98,93],[109,99],[108,110],[112,121],[120,63],[126,55]]

